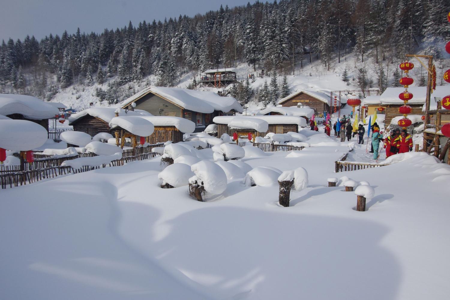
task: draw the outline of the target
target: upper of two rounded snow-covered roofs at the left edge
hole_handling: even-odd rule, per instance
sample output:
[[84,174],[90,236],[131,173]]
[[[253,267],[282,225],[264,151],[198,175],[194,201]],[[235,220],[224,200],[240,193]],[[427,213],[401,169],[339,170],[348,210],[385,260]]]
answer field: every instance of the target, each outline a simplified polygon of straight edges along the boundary
[[58,108],[35,97],[16,94],[0,94],[0,115],[14,113],[27,119],[44,120],[59,114]]

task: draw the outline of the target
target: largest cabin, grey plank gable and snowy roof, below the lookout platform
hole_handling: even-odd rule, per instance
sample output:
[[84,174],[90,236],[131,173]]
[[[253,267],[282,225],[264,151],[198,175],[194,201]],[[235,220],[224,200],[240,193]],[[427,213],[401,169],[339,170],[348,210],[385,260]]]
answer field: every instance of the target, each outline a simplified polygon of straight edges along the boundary
[[220,97],[213,92],[179,88],[148,87],[126,99],[121,107],[136,103],[135,108],[154,116],[176,116],[193,121],[195,131],[203,131],[215,116],[234,115],[242,106],[232,97]]

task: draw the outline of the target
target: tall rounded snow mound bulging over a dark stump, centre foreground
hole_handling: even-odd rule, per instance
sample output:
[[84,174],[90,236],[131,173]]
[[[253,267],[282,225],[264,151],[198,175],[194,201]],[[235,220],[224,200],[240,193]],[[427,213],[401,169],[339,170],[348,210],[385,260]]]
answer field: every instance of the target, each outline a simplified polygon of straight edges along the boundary
[[207,193],[223,193],[227,186],[227,178],[224,170],[212,161],[199,161],[191,166],[195,176],[189,182],[197,180],[198,184],[205,188]]

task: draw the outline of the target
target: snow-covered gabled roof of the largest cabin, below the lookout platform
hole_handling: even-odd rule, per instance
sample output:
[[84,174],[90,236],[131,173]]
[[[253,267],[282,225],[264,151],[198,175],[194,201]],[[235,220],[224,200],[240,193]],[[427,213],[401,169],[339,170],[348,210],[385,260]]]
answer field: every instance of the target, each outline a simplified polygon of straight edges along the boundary
[[242,106],[238,101],[232,97],[222,97],[214,92],[197,91],[179,88],[167,88],[160,86],[150,86],[134,94],[130,98],[121,103],[121,107],[135,102],[148,93],[156,94],[157,96],[174,103],[175,105],[193,112],[211,113],[215,110],[222,112],[229,112],[235,110],[243,112]]

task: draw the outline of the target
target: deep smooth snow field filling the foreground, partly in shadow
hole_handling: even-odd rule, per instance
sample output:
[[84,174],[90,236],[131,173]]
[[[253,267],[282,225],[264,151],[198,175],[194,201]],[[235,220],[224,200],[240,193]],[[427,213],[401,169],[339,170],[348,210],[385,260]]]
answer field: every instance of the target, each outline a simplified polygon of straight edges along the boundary
[[[187,186],[162,189],[160,157],[2,190],[0,298],[448,299],[450,166],[419,152],[334,173],[348,148],[329,140],[241,159],[304,167],[308,187],[291,192],[290,207],[276,183],[228,180],[207,202]],[[369,160],[365,148],[351,157]],[[342,176],[374,188],[367,211],[328,187]]]

